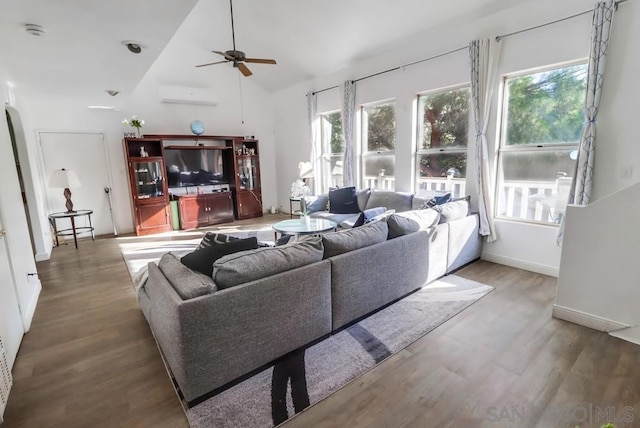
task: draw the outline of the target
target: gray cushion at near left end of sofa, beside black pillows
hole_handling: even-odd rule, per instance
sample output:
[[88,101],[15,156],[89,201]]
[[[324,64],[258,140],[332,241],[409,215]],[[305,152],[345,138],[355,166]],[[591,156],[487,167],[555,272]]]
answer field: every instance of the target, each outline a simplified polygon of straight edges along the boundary
[[171,253],[160,257],[158,268],[182,300],[204,296],[217,290],[210,276],[193,271]]

